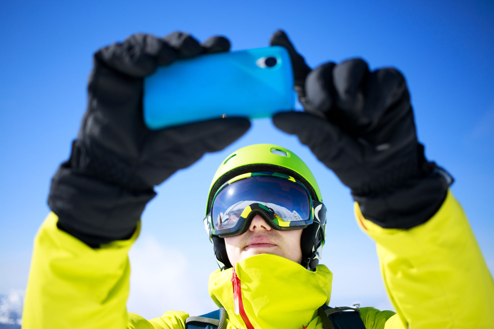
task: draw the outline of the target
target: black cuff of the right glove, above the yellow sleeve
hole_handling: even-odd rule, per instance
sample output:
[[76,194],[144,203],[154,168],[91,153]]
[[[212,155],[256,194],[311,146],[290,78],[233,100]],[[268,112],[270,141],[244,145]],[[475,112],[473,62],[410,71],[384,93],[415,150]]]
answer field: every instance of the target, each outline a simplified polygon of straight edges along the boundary
[[393,190],[356,195],[362,215],[383,228],[412,228],[429,220],[443,204],[453,178],[428,162],[428,173],[410,179]]

